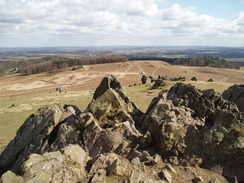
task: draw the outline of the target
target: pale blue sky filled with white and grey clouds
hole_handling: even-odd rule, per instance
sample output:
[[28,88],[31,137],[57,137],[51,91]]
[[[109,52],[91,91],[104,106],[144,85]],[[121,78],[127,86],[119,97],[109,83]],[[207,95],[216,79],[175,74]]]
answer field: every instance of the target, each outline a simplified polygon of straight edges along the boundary
[[244,46],[244,0],[0,0],[0,47]]

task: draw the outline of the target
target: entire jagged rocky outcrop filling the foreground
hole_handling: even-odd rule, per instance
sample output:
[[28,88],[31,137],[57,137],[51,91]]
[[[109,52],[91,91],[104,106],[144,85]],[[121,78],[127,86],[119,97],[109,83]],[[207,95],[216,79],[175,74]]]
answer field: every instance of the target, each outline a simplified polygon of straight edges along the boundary
[[107,76],[84,112],[31,115],[0,156],[0,182],[226,181],[199,166],[243,181],[242,149],[243,114],[213,90],[176,84],[144,114]]

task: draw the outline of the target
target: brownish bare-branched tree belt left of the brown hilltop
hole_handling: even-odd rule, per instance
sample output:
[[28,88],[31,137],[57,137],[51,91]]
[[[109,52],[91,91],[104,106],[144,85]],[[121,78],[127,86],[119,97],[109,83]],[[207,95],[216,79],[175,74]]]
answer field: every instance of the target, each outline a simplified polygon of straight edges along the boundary
[[57,71],[67,67],[79,65],[93,65],[103,63],[115,63],[128,61],[123,56],[107,57],[87,57],[87,58],[64,58],[64,57],[44,57],[34,62],[27,62],[19,68],[21,74],[30,75],[41,72]]

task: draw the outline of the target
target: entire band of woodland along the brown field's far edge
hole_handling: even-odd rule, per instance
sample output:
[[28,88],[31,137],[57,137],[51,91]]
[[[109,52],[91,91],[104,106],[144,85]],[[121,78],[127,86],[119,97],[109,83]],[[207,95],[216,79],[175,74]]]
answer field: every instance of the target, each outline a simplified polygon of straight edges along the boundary
[[[132,60],[132,57],[129,57]],[[239,69],[237,63],[227,62],[224,59],[200,56],[189,58],[157,58],[157,57],[133,57],[133,60],[162,60],[174,65],[187,66],[208,66],[218,68],[233,68]],[[4,61],[0,62],[0,76],[20,73],[23,75],[36,74],[41,72],[53,72],[65,69],[68,67],[126,62],[126,56],[99,56],[99,57],[60,57],[60,56],[45,56],[39,59],[28,61]],[[7,74],[6,74],[7,73]]]

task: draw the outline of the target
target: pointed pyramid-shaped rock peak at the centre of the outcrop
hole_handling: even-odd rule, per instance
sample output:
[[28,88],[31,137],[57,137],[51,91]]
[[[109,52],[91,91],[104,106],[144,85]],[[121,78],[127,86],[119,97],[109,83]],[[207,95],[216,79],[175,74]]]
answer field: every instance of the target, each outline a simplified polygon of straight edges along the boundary
[[113,76],[105,77],[96,89],[88,110],[98,120],[121,122],[130,119],[130,115],[138,113],[139,109],[123,92],[120,83]]

